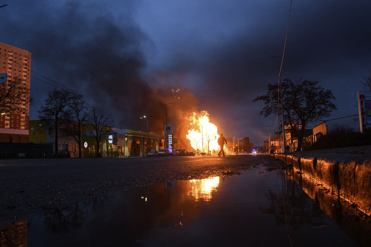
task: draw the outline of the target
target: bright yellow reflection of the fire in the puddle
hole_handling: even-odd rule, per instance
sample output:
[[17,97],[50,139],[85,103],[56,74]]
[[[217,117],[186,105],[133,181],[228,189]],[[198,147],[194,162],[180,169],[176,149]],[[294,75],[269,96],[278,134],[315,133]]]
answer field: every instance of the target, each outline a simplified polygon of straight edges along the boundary
[[209,201],[211,192],[219,186],[219,177],[207,179],[189,180],[191,190],[188,191],[188,196],[195,197],[196,200],[203,199]]

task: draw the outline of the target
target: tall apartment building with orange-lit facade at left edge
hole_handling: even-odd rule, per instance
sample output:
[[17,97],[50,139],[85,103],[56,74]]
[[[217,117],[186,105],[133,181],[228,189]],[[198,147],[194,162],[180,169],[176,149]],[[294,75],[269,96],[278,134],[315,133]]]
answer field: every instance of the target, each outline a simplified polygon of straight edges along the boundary
[[[0,43],[0,65],[0,73],[7,73],[7,81],[17,76],[22,79],[23,86],[30,89],[31,53]],[[30,104],[21,107],[19,112],[1,113],[0,142],[28,142]]]

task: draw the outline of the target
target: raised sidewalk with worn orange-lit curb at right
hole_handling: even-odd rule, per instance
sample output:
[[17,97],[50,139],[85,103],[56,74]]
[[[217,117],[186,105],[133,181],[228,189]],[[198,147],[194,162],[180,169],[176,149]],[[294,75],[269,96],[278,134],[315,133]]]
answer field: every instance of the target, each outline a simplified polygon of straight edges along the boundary
[[371,146],[274,154],[371,216]]

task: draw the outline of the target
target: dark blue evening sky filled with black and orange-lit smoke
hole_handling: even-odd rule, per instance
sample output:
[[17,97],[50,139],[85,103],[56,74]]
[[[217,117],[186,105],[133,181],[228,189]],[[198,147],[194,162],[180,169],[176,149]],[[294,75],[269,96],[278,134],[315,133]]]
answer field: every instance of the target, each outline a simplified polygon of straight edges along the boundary
[[[253,99],[278,81],[290,0],[3,4],[0,42],[32,53],[30,120],[63,85],[111,111],[114,127],[146,131],[139,117],[147,115],[148,131],[159,132],[171,102],[180,138],[191,111],[207,110],[219,132],[255,146],[275,124]],[[326,119],[358,113],[355,94],[371,70],[370,13],[370,0],[292,1],[281,78],[331,89],[338,110]]]

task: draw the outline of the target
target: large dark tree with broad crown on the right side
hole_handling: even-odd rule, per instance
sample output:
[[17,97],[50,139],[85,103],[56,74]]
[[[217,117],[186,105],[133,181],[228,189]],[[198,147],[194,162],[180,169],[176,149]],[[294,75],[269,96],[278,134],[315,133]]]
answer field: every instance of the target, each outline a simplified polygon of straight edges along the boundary
[[[331,100],[335,100],[331,90],[325,90],[318,85],[318,81],[298,80],[292,81],[289,78],[280,84],[278,99],[278,83],[268,84],[267,93],[257,96],[253,102],[263,101],[265,106],[260,115],[265,117],[270,114],[277,114],[282,104],[283,120],[289,124],[291,130],[298,136],[298,148],[301,151],[305,127],[309,123],[329,117],[333,110],[337,110]],[[301,128],[297,128],[301,125]],[[286,143],[285,143],[286,144]]]

